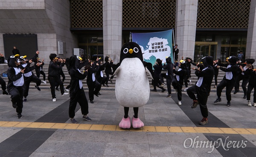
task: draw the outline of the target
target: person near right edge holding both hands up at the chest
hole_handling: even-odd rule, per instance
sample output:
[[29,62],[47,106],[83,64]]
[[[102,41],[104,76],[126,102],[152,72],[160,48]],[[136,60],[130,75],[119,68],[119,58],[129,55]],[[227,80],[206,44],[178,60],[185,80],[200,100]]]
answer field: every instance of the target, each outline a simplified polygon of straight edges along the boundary
[[255,62],[255,59],[246,59],[245,63],[243,64],[239,64],[239,70],[238,70],[238,75],[236,77],[236,84],[235,84],[235,92],[234,94],[236,94],[237,92],[239,92],[239,84],[240,81],[242,81],[242,89],[244,91],[244,99],[246,98],[246,94],[247,94],[247,88],[246,85],[250,79],[250,72],[253,69],[253,63]]

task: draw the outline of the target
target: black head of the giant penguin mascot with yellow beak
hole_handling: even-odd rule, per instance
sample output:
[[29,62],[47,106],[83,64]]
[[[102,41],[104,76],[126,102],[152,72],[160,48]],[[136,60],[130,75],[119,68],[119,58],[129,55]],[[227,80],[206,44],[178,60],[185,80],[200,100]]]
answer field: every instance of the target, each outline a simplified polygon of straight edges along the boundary
[[140,46],[135,42],[127,42],[122,46],[120,64],[125,58],[139,58],[143,63],[143,56]]

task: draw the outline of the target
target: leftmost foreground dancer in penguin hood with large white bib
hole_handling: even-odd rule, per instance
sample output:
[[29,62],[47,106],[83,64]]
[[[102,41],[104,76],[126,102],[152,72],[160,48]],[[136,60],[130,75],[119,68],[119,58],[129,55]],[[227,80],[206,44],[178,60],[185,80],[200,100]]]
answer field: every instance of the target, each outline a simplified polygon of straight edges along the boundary
[[11,95],[12,107],[16,109],[17,117],[22,118],[25,68],[20,67],[19,55],[9,57],[7,91]]

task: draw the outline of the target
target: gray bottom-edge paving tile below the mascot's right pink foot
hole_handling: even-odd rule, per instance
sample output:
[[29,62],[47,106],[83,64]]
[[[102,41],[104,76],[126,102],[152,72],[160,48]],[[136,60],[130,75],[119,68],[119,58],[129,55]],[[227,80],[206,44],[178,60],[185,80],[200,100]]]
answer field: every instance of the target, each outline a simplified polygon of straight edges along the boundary
[[150,157],[150,149],[148,144],[128,144],[127,156],[131,157]]

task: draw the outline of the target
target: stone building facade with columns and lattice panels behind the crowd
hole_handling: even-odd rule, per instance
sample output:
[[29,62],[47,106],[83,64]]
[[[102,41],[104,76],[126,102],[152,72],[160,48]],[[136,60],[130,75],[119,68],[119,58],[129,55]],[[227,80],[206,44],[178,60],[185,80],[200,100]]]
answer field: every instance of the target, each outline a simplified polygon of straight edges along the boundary
[[[81,48],[84,58],[109,56],[117,63],[130,32],[173,28],[179,59],[224,61],[240,51],[256,58],[255,0],[2,0],[0,22],[5,56],[12,46],[31,56],[38,48],[49,61],[50,53],[66,58]],[[24,42],[32,35],[37,44]]]

